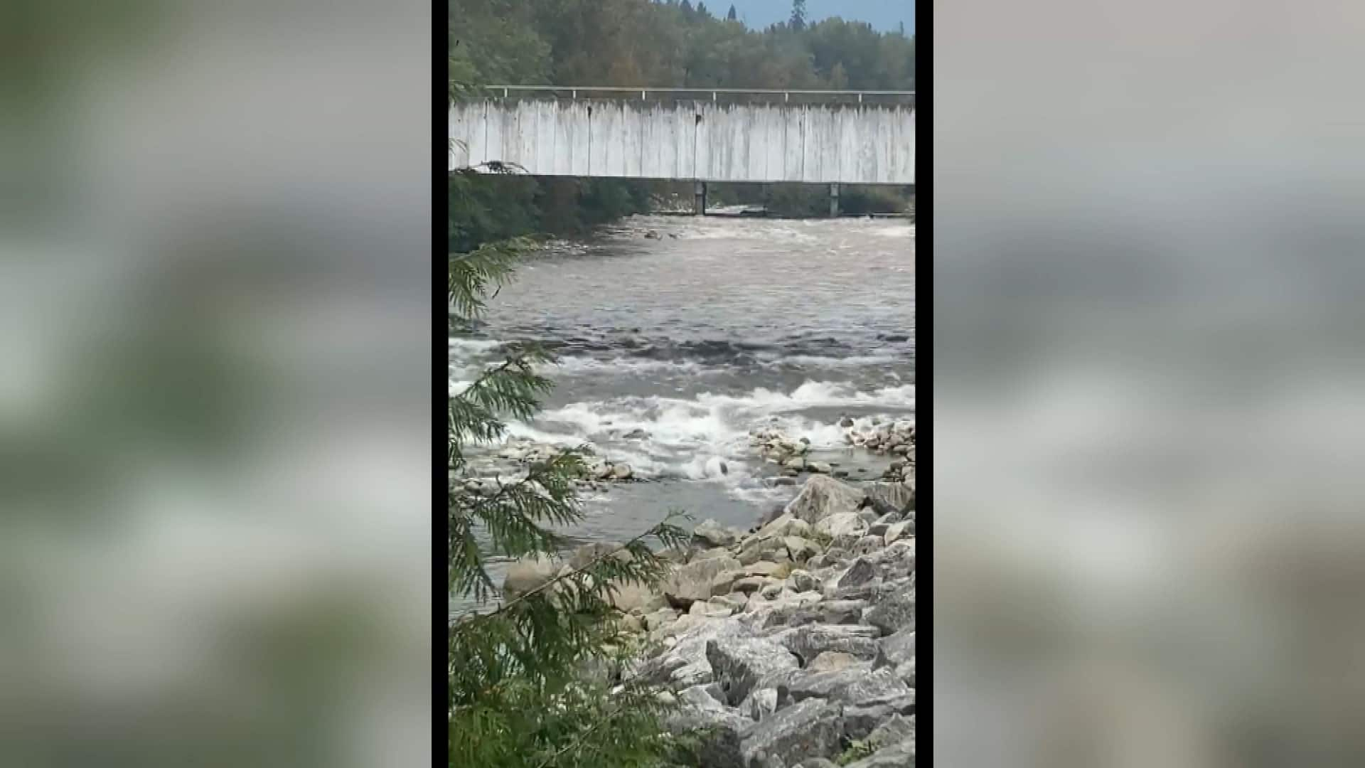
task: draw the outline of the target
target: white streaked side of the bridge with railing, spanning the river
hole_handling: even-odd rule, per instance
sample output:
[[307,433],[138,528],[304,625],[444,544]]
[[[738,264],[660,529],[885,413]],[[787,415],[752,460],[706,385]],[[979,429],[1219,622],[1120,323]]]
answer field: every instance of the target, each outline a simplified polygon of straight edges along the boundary
[[702,182],[915,183],[915,94],[489,87],[450,109],[450,168]]

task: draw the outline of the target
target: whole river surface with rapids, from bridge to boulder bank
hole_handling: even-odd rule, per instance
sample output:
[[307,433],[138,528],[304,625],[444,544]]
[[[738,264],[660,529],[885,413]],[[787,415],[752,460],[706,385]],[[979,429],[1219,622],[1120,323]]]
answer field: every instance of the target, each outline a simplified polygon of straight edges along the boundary
[[889,463],[838,424],[913,417],[913,262],[902,219],[632,217],[526,262],[479,331],[450,338],[452,391],[502,343],[557,353],[545,410],[509,435],[587,444],[646,480],[587,493],[576,540],[628,538],[669,510],[748,527],[797,491],[751,429],[807,437],[850,480]]

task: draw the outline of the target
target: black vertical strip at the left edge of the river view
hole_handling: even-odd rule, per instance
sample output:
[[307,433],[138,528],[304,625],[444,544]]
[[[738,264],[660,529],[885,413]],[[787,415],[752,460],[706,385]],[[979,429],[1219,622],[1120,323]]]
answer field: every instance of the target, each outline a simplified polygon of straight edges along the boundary
[[449,642],[449,562],[450,519],[446,512],[445,403],[448,398],[449,316],[446,301],[448,253],[446,212],[449,184],[449,119],[446,97],[449,78],[450,7],[445,0],[431,5],[431,765],[449,760],[450,701],[446,644]]

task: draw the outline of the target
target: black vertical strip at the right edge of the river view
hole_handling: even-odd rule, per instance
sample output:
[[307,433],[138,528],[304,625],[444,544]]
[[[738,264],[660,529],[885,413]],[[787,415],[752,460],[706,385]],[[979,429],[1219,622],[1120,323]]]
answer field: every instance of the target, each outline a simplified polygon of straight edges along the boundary
[[[934,0],[915,1],[915,752],[934,764]],[[919,635],[924,635],[920,638]]]

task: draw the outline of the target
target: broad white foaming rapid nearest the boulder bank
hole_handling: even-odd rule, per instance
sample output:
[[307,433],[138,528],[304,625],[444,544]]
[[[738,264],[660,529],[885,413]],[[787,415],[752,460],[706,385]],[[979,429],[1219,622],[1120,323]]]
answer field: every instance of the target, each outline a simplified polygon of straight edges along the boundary
[[587,444],[607,461],[629,463],[640,477],[704,480],[751,495],[762,467],[749,445],[752,429],[777,428],[792,439],[807,439],[816,451],[848,447],[834,414],[809,413],[816,409],[913,420],[915,387],[863,392],[848,383],[805,381],[792,392],[758,388],[692,399],[614,398],[546,410],[530,424],[508,425],[508,435],[565,447]]

